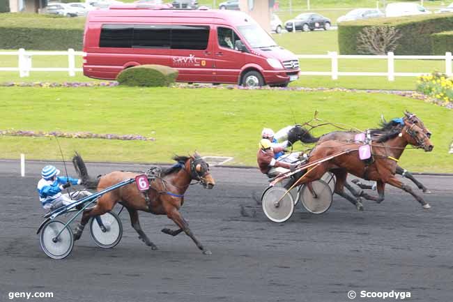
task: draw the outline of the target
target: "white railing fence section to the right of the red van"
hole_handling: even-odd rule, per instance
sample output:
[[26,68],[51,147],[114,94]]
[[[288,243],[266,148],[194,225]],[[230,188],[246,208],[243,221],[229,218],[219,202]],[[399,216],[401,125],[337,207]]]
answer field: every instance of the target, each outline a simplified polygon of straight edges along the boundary
[[[298,54],[298,59],[330,59],[330,71],[301,71],[300,75],[330,75],[332,80],[338,80],[341,76],[374,76],[387,77],[389,81],[394,81],[395,77],[417,77],[426,75],[426,73],[396,73],[394,71],[395,60],[445,60],[445,74],[451,77],[452,74],[452,53],[446,52],[445,56],[395,56],[393,52],[388,52],[387,55],[371,56],[371,55],[344,55],[337,52],[328,52],[328,54]],[[387,60],[386,73],[360,73],[360,72],[345,72],[338,70],[338,59],[385,59]],[[432,70],[431,70],[432,71]]]

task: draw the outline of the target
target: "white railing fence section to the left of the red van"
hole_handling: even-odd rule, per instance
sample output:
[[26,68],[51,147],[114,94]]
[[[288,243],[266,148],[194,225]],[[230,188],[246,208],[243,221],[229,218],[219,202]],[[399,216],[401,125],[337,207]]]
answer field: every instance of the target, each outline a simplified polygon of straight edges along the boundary
[[[18,67],[0,67],[0,71],[19,71],[20,77],[29,77],[30,71],[68,71],[70,77],[74,77],[76,71],[82,68],[75,68],[75,56],[84,56],[84,52],[76,52],[72,48],[61,52],[29,52],[23,48],[17,52],[0,52],[0,56],[17,56]],[[68,56],[68,67],[33,67],[31,64],[33,56]]]

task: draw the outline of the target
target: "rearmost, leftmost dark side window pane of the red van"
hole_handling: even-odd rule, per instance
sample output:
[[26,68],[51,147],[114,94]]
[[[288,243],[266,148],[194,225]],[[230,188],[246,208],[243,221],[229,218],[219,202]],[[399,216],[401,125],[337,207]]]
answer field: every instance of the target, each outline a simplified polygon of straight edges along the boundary
[[99,47],[132,47],[132,24],[104,24],[100,31]]

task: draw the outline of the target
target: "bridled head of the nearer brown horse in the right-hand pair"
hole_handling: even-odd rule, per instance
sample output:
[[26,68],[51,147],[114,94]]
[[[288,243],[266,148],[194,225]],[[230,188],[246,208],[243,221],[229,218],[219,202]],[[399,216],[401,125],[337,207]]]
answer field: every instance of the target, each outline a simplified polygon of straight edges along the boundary
[[401,130],[401,136],[404,136],[409,144],[423,148],[424,151],[433,151],[433,144],[429,139],[431,132],[424,126],[424,123],[409,112],[404,112],[406,118],[404,119],[404,127]]

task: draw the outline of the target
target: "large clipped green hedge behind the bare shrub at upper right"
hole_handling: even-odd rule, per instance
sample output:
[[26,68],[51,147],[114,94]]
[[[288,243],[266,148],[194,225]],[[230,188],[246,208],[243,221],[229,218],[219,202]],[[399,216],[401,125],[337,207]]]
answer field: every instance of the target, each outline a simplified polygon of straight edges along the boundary
[[394,27],[401,33],[395,54],[432,54],[431,35],[453,29],[453,14],[376,18],[342,22],[338,27],[340,54],[358,54],[357,36],[364,27]]

